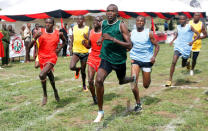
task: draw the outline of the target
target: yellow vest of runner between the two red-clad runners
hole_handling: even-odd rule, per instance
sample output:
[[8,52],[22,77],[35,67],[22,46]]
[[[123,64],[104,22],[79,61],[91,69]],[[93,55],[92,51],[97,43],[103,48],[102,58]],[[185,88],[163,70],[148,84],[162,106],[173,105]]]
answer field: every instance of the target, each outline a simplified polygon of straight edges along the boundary
[[85,40],[83,34],[88,35],[89,27],[84,26],[84,28],[79,28],[78,25],[75,25],[73,28],[73,52],[74,53],[88,53],[88,49],[82,44],[82,41]]

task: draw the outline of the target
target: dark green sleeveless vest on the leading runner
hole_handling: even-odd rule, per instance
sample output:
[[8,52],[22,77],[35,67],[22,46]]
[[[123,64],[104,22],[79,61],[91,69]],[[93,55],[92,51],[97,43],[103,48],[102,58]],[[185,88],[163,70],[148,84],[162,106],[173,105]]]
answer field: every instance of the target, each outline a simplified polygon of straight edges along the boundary
[[[118,20],[113,24],[109,24],[107,20],[102,23],[102,34],[109,34],[117,40],[124,41],[123,35],[120,31],[121,21]],[[111,64],[123,64],[126,62],[126,48],[114,43],[111,40],[104,40],[100,52],[100,58],[104,59]]]

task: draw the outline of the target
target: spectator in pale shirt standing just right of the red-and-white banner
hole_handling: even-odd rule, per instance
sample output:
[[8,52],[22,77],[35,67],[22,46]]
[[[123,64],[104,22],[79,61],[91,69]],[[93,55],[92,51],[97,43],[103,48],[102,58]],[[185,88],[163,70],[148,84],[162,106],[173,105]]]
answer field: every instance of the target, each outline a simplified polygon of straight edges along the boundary
[[24,30],[24,38],[25,38],[25,49],[26,49],[26,55],[25,55],[25,62],[28,63],[30,61],[30,48],[29,43],[31,42],[31,24],[27,23],[27,26]]

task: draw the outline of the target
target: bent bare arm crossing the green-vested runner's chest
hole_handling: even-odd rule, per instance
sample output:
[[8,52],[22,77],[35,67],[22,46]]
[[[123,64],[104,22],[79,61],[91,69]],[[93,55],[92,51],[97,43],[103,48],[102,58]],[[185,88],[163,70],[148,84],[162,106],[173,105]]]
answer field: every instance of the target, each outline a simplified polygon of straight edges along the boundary
[[128,31],[128,28],[123,22],[121,23],[120,28],[121,28],[121,33],[124,37],[125,42],[117,40],[116,38],[110,36],[109,34],[103,34],[102,38],[100,38],[97,43],[100,44],[102,39],[103,40],[111,40],[114,43],[119,44],[119,45],[125,47],[128,50],[131,50],[132,43],[131,43],[131,40],[130,40],[130,34],[129,34],[129,31]]

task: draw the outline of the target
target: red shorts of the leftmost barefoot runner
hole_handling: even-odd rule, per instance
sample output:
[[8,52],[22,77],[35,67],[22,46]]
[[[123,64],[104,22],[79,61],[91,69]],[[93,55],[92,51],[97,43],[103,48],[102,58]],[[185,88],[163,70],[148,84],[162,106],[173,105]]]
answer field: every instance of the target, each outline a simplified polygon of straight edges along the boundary
[[43,68],[47,65],[47,63],[50,63],[55,66],[57,57],[51,57],[51,58],[41,58],[39,57],[39,64],[40,64],[40,69],[43,70]]

